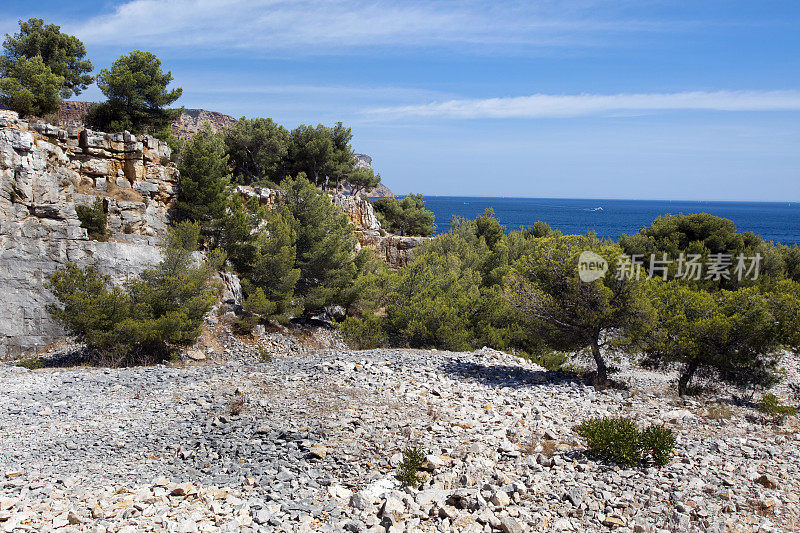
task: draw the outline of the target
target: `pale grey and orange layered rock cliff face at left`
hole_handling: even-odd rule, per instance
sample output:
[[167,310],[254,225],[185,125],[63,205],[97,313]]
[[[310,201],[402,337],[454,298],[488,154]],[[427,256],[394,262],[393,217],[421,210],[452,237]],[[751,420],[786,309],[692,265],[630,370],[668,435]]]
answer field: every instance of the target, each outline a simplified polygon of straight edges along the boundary
[[[178,170],[149,136],[29,124],[0,112],[0,359],[61,337],[44,287],[68,261],[115,282],[157,263]],[[107,242],[89,240],[75,207],[103,202]]]

